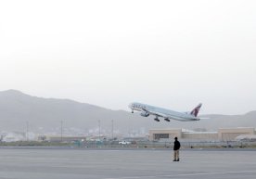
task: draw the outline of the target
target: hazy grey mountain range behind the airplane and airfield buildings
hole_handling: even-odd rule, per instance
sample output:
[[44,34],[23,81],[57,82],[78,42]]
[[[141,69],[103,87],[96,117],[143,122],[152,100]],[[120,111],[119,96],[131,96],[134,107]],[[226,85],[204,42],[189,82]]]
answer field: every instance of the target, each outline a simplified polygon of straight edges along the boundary
[[70,99],[42,98],[29,96],[17,90],[0,92],[0,130],[25,131],[29,123],[30,130],[36,132],[56,131],[60,128],[80,129],[84,133],[101,128],[102,132],[114,131],[120,134],[147,133],[148,129],[185,128],[189,130],[218,128],[255,127],[256,110],[243,115],[203,115],[210,118],[201,121],[154,121],[139,113],[125,110],[111,110]]

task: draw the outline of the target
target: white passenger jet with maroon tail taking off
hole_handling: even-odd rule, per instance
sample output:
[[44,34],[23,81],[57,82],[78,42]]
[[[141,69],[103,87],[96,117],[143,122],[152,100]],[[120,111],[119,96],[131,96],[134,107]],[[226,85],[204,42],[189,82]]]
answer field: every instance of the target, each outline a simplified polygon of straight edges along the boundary
[[162,109],[137,102],[131,103],[128,107],[132,109],[132,113],[134,113],[134,110],[141,111],[140,115],[143,117],[148,117],[149,115],[156,116],[154,119],[155,121],[160,121],[160,117],[163,118],[164,121],[199,121],[202,119],[198,117],[198,112],[201,106],[202,104],[199,103],[191,112],[176,112],[170,109]]

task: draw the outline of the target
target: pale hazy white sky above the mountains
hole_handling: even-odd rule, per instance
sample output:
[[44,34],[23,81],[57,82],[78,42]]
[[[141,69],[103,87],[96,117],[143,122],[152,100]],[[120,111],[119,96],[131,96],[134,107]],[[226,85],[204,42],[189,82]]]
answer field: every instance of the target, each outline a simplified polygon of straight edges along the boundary
[[256,109],[256,1],[0,1],[0,91],[108,109]]

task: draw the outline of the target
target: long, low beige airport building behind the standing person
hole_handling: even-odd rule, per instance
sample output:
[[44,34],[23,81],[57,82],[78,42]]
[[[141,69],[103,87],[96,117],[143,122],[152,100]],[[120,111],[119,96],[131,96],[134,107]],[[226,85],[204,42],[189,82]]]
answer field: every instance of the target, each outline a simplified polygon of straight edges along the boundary
[[240,127],[219,129],[218,132],[187,132],[182,129],[152,129],[149,130],[149,140],[173,139],[177,136],[183,140],[200,141],[232,141],[242,134],[256,134],[255,128]]

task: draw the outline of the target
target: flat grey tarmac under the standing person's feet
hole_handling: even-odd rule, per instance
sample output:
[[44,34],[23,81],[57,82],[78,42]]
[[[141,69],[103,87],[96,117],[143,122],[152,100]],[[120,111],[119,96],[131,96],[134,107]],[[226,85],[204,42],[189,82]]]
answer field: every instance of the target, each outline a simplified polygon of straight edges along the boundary
[[255,150],[0,149],[0,179],[255,179]]

